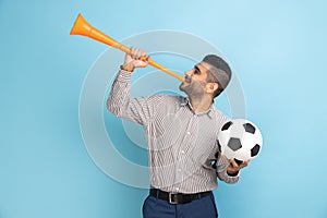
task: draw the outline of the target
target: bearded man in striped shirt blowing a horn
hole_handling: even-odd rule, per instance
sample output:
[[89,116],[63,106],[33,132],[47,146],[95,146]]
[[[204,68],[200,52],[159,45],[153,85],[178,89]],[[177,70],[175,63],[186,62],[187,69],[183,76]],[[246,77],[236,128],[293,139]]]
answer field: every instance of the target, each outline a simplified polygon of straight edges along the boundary
[[166,94],[131,98],[131,76],[148,64],[146,53],[131,48],[107,100],[109,111],[144,126],[148,146],[150,192],[143,205],[144,218],[218,217],[213,190],[218,179],[239,180],[247,166],[221,156],[218,130],[228,120],[215,106],[228,85],[231,70],[209,55],[185,72],[180,89],[187,98]]

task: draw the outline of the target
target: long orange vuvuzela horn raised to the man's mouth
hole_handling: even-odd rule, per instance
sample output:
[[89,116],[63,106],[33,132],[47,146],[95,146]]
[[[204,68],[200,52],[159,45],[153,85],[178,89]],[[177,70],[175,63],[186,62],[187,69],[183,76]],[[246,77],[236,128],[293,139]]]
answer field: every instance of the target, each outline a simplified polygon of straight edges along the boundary
[[[117,40],[114,40],[113,38],[111,38],[110,36],[107,36],[106,34],[104,34],[102,32],[100,32],[99,29],[95,28],[94,26],[92,26],[89,23],[87,23],[87,21],[82,16],[82,14],[80,13],[72,29],[71,29],[71,35],[82,35],[82,36],[87,36],[89,38],[93,38],[97,41],[107,44],[108,46],[112,46],[114,48],[118,48],[126,53],[130,53],[130,48],[118,43]],[[143,60],[146,60],[147,58],[144,57]],[[150,65],[164,71],[165,73],[168,73],[169,75],[180,80],[180,81],[184,81],[184,77],[181,75],[178,75],[177,73],[170,71],[169,69],[165,68],[164,65],[155,62],[154,60],[150,60],[148,62]]]

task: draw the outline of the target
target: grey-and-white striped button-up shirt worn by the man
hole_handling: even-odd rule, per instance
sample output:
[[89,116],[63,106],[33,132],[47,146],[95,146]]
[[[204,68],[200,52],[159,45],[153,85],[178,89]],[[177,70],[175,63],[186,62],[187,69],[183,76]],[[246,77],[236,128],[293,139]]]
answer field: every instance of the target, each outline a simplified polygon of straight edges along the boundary
[[222,112],[211,105],[207,111],[195,113],[182,96],[132,98],[131,76],[128,71],[119,71],[107,108],[144,126],[152,187],[197,193],[215,190],[217,177],[227,183],[238,182],[239,175],[228,175],[219,158],[218,130],[228,120]]

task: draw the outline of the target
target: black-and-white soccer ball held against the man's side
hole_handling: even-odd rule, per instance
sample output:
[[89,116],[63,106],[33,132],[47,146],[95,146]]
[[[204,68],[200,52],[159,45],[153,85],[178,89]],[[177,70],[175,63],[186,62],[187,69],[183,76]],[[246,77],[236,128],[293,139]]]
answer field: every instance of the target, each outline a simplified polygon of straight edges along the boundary
[[263,137],[258,128],[245,119],[226,122],[218,133],[221,154],[228,159],[234,158],[238,164],[250,160],[261,152]]

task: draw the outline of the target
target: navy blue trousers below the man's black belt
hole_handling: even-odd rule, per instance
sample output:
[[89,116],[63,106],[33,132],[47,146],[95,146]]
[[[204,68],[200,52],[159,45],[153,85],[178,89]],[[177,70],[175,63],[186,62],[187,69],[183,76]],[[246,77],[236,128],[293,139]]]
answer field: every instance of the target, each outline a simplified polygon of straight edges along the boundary
[[143,204],[143,218],[217,218],[214,194],[186,204],[169,204],[147,196]]

